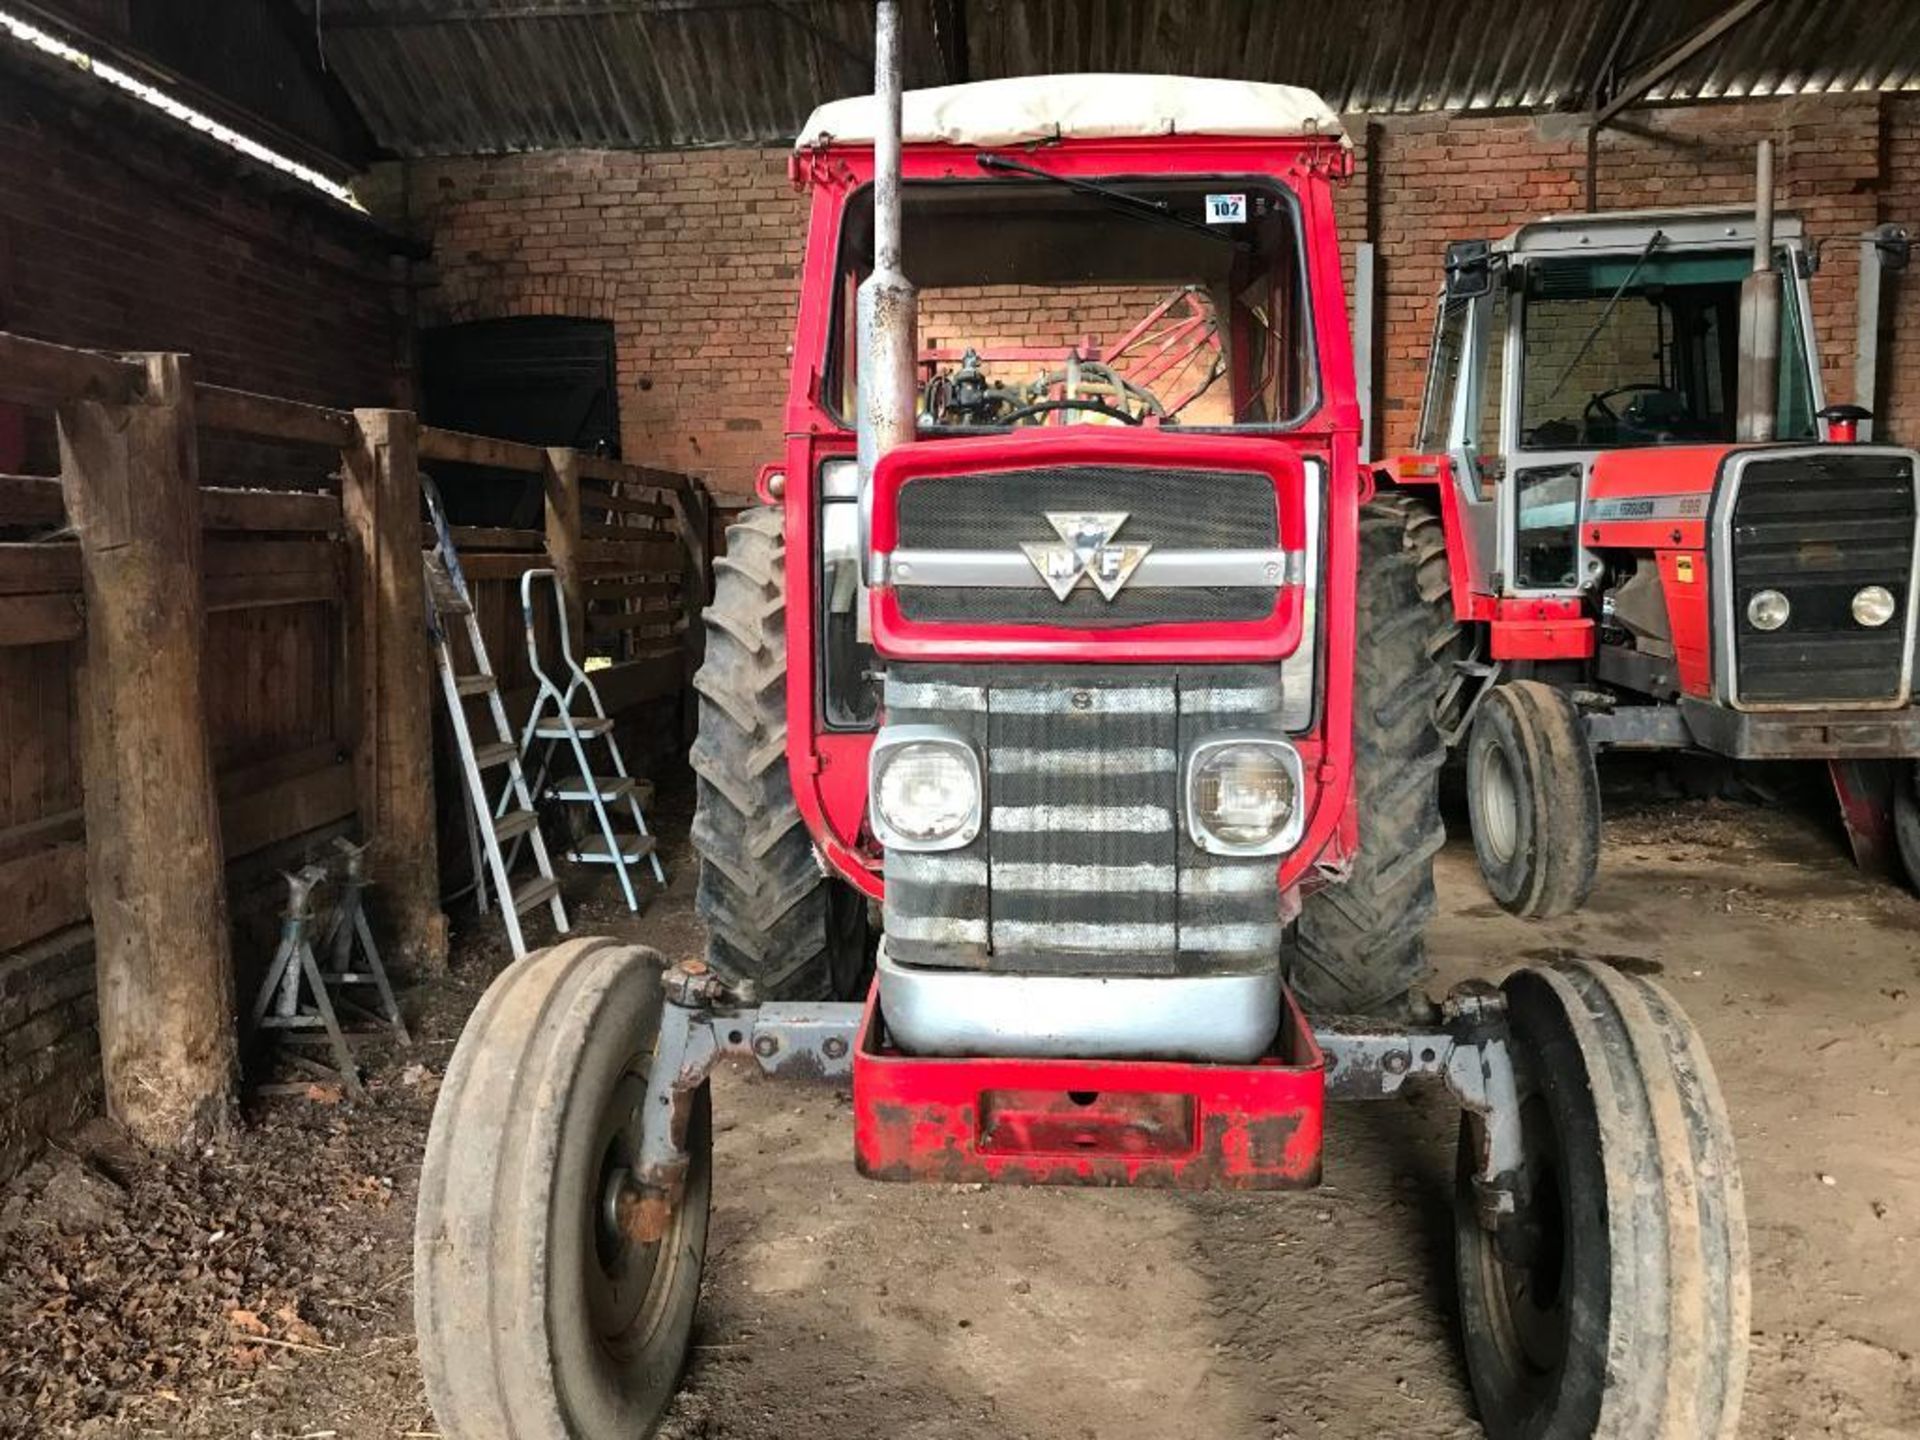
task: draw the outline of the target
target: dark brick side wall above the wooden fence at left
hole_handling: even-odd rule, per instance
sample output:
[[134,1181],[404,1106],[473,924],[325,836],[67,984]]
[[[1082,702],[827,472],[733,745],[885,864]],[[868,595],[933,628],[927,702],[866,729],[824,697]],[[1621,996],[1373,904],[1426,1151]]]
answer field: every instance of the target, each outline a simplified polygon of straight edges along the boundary
[[[282,182],[119,104],[0,69],[0,328],[100,349],[180,349],[198,374],[332,405],[397,394],[388,246]],[[209,482],[259,484],[261,447]],[[44,434],[35,442],[46,461]]]

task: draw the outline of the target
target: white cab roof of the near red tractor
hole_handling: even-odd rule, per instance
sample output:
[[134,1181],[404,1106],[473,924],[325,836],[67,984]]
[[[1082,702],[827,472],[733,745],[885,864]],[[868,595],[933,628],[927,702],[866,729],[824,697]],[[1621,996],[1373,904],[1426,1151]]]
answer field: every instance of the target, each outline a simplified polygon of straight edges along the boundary
[[[874,144],[874,96],[833,100],[808,115],[795,150]],[[1325,100],[1294,84],[1194,81],[1179,75],[1021,75],[908,90],[904,144],[1010,146],[1142,134],[1332,136],[1352,142]]]

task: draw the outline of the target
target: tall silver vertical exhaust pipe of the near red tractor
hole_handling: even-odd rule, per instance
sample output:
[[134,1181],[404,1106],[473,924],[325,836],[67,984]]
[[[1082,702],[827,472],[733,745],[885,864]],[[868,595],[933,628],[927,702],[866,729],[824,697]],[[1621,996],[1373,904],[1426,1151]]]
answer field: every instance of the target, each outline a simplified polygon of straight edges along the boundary
[[[874,273],[860,282],[858,457],[860,513],[874,465],[914,438],[918,323],[912,282],[900,269],[900,4],[877,0],[874,15]],[[864,541],[864,526],[862,526]],[[864,547],[864,545],[862,545]]]

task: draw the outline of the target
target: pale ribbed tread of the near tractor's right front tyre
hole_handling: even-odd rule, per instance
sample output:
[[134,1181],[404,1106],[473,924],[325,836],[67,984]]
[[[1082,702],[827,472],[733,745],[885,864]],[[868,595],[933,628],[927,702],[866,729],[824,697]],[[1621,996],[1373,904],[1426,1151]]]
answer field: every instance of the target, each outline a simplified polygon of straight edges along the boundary
[[1734,1440],[1753,1308],[1745,1196],[1699,1031],[1659,985],[1611,966],[1507,981],[1509,995],[1528,985],[1549,989],[1572,1029],[1605,1160],[1613,1300],[1592,1436]]

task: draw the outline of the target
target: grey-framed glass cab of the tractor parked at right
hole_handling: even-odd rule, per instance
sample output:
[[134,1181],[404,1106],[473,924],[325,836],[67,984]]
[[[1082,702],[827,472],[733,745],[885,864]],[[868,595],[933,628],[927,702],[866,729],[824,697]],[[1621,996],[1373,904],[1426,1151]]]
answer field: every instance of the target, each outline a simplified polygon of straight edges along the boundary
[[[1417,449],[1452,459],[1488,595],[1578,595],[1601,574],[1580,528],[1611,451],[1732,445],[1753,209],[1569,215],[1455,248],[1434,319]],[[1772,432],[1812,444],[1826,405],[1801,223],[1774,219]]]

